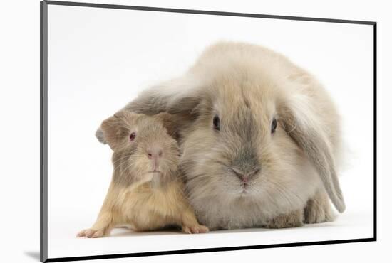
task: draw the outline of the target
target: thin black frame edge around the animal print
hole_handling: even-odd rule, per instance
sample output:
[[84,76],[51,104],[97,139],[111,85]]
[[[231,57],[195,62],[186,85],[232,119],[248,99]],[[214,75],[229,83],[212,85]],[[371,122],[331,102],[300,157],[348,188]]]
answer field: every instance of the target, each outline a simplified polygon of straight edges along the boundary
[[[242,247],[215,247],[207,249],[183,249],[158,252],[141,252],[125,254],[102,254],[83,257],[56,257],[48,258],[48,5],[83,6],[103,9],[129,9],[140,11],[158,11],[182,14],[205,14],[213,16],[242,16],[251,18],[272,18],[296,21],[315,21],[327,23],[352,23],[373,26],[373,237],[352,240],[328,240],[314,242],[293,242],[270,245],[254,245]],[[191,254],[205,252],[223,252],[230,250],[263,249],[274,247],[300,247],[310,245],[329,245],[356,242],[377,241],[377,23],[375,21],[356,21],[330,18],[309,18],[301,16],[274,16],[267,14],[246,14],[223,11],[204,11],[192,9],[168,9],[150,6],[125,6],[117,4],[93,4],[71,1],[46,1],[40,2],[40,261],[41,262],[68,262],[91,259],[113,259],[124,257],[145,257],[167,254]]]

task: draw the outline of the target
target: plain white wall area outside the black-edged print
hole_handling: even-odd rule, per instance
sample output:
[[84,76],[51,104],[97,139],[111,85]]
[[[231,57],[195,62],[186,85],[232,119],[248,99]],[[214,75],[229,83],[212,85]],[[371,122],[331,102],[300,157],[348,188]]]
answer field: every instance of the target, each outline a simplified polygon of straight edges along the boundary
[[[115,2],[115,1],[113,1]],[[124,2],[124,1],[123,1]],[[27,2],[26,2],[27,3]],[[303,2],[304,3],[304,2]],[[309,2],[310,3],[310,2]],[[308,4],[309,4],[308,3]],[[127,4],[160,6],[156,1],[128,1]],[[17,5],[17,4],[16,4]],[[2,182],[4,195],[1,200],[4,200],[3,213],[1,225],[4,226],[3,239],[6,242],[7,248],[6,256],[14,256],[15,261],[23,262],[27,260],[36,260],[36,253],[38,252],[38,189],[39,189],[39,165],[38,165],[38,151],[39,151],[39,8],[38,2],[29,1],[29,4],[21,5],[19,2],[18,9],[7,10],[6,16],[1,16],[1,24],[4,31],[9,36],[6,41],[1,43],[1,57],[6,58],[4,61],[2,76],[2,90],[4,96],[1,102],[1,112],[3,124],[1,135],[4,138],[4,151],[2,151],[3,173]],[[384,107],[384,111],[380,115],[378,128],[378,140],[382,141],[381,151],[384,155],[379,155],[379,163],[384,163],[384,166],[379,166],[378,171],[378,200],[379,200],[379,221],[378,227],[381,230],[378,232],[378,242],[364,243],[364,244],[349,244],[349,245],[329,245],[317,247],[296,247],[296,248],[282,248],[282,249],[263,249],[242,252],[220,252],[208,254],[192,254],[192,255],[174,255],[165,257],[146,257],[143,259],[115,259],[119,262],[121,260],[143,260],[144,262],[161,261],[161,262],[200,262],[200,260],[226,260],[238,261],[244,258],[251,259],[257,257],[265,260],[292,260],[293,258],[301,260],[301,262],[314,261],[317,257],[320,262],[330,262],[331,260],[338,260],[343,258],[356,260],[357,262],[368,262],[373,257],[381,257],[381,253],[386,252],[388,245],[388,232],[391,232],[389,227],[389,220],[391,213],[388,210],[388,200],[391,199],[388,185],[391,184],[388,178],[388,167],[385,166],[388,161],[388,156],[385,155],[390,139],[386,137],[386,132],[391,128],[388,125],[388,116],[386,109],[388,106],[388,87],[391,86],[388,80],[388,58],[390,58],[390,51],[386,48],[391,45],[391,39],[387,38],[388,21],[386,14],[386,6],[371,6],[370,4],[359,4],[352,2],[351,4],[343,4],[329,1],[328,4],[317,4],[316,6],[308,6],[304,4],[282,4],[282,2],[275,4],[248,4],[245,1],[237,3],[237,5],[213,2],[210,4],[198,1],[196,3],[188,2],[180,4],[175,1],[167,1],[165,7],[180,7],[190,9],[206,9],[206,10],[221,10],[221,11],[240,11],[260,14],[283,14],[293,16],[318,16],[327,18],[349,18],[361,20],[376,20],[378,21],[378,52],[382,54],[382,58],[378,67],[379,85],[378,85],[378,105]],[[12,13],[12,11],[15,11]],[[381,23],[380,23],[381,22]],[[9,25],[11,25],[9,27]],[[383,32],[386,33],[383,33]],[[380,55],[379,55],[380,58]],[[312,70],[314,71],[314,70]],[[322,78],[321,78],[322,80]],[[379,108],[381,109],[381,107]],[[379,152],[380,154],[381,152]],[[11,158],[10,158],[11,157]],[[371,162],[371,160],[368,160]],[[11,245],[11,246],[10,246]],[[306,249],[306,254],[305,250]],[[319,258],[322,254],[321,259]]]

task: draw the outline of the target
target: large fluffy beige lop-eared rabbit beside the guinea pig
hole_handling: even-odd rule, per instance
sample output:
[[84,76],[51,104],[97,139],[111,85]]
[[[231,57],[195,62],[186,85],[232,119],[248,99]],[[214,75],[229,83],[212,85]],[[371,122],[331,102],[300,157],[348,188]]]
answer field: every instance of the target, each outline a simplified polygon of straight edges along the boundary
[[268,48],[215,43],[123,109],[180,119],[180,168],[210,230],[299,227],[334,220],[329,200],[346,208],[339,112],[314,76]]

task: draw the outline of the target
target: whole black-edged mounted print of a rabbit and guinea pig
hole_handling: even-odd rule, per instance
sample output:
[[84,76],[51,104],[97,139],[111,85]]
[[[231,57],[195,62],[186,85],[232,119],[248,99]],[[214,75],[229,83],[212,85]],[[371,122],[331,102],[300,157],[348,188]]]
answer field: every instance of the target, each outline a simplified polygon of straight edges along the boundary
[[41,261],[376,240],[376,23],[41,2]]

